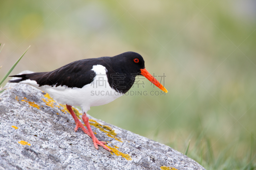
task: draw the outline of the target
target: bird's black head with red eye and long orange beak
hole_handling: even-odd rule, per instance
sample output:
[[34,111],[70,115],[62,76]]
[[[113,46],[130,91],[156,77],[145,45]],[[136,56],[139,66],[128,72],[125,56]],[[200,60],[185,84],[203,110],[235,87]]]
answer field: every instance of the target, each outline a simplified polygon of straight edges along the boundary
[[135,52],[129,51],[112,57],[112,62],[118,64],[121,72],[142,75],[164,92],[168,92],[145,68],[143,57]]

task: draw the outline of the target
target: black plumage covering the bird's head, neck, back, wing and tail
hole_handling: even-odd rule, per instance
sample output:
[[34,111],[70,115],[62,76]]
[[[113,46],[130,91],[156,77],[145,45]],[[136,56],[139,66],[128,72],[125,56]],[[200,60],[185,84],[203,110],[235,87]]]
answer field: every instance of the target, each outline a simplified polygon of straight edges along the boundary
[[[139,62],[134,63],[134,58]],[[142,56],[135,52],[125,52],[114,57],[99,57],[78,60],[59,69],[50,72],[39,72],[31,74],[21,74],[10,77],[20,79],[10,80],[11,83],[18,83],[27,79],[35,80],[40,86],[67,86],[70,88],[82,88],[90,84],[95,77],[92,70],[94,65],[102,65],[107,69],[108,84],[116,92],[125,93],[133,85],[135,76],[140,74],[140,69],[145,68]]]

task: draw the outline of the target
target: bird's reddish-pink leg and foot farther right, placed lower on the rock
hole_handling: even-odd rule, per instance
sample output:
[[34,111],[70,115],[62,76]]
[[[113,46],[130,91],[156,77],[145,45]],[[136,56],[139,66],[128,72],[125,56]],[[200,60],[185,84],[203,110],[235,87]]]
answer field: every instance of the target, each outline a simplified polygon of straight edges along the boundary
[[98,145],[100,145],[100,146],[102,146],[104,149],[106,149],[107,151],[111,152],[111,150],[110,150],[107,146],[104,145],[104,144],[107,144],[106,142],[99,141],[99,140],[94,136],[94,133],[93,133],[93,131],[92,131],[92,129],[91,129],[91,126],[90,126],[90,124],[89,124],[89,117],[86,116],[86,113],[84,113],[84,114],[82,115],[82,119],[83,119],[83,121],[84,121],[84,123],[85,123],[85,125],[86,125],[86,127],[87,127],[87,129],[88,129],[88,131],[89,131],[89,133],[90,133],[90,135],[91,135],[91,137],[92,137],[92,142],[93,142],[95,148],[96,148],[96,149],[99,149]]

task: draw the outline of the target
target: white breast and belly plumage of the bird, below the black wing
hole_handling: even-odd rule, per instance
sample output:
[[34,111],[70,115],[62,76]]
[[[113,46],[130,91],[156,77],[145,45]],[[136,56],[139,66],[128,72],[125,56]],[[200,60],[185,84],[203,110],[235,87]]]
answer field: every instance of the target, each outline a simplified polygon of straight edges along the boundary
[[107,69],[102,65],[94,65],[92,70],[96,73],[91,84],[84,85],[83,88],[68,88],[66,86],[49,86],[43,85],[38,87],[38,84],[34,80],[25,80],[20,83],[32,85],[44,92],[50,94],[54,100],[62,104],[68,104],[71,106],[81,106],[83,112],[90,110],[91,106],[100,106],[107,104],[118,97],[122,96],[122,93],[116,92],[108,84]]

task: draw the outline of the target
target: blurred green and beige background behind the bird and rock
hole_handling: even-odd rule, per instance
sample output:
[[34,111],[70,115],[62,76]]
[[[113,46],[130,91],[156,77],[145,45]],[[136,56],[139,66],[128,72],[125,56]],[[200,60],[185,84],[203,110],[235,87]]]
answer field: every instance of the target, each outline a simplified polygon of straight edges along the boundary
[[[191,140],[206,169],[256,169],[255,28],[255,0],[1,0],[0,76],[29,45],[11,75],[138,52],[169,92],[88,114],[182,153]],[[158,90],[145,84],[132,90]]]

